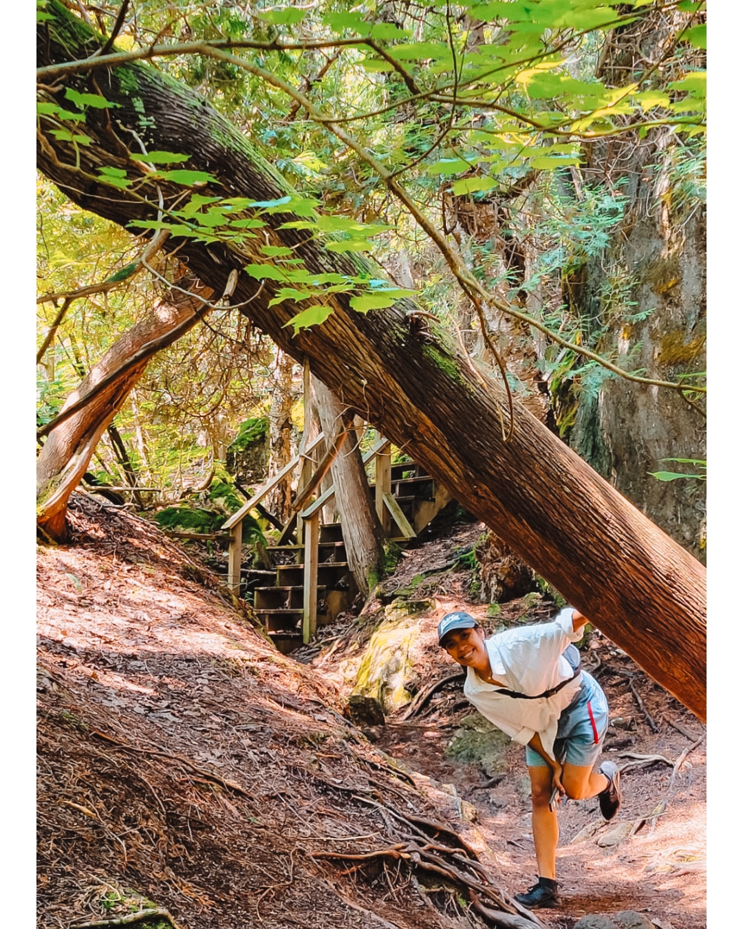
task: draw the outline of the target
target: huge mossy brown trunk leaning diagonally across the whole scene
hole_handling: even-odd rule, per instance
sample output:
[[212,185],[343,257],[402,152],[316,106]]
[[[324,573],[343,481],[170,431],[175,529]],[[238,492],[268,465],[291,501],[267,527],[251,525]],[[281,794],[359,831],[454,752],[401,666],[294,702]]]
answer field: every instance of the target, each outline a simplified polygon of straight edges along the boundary
[[[39,27],[39,63],[86,59],[101,40],[56,2]],[[48,78],[46,78],[48,80]],[[46,98],[62,104],[67,85],[104,95],[117,105],[115,124],[106,109],[91,109],[90,142],[75,147],[62,134],[40,130],[39,167],[75,203],[126,226],[157,216],[158,191],[174,203],[183,189],[159,181],[150,202],[99,182],[101,165],[133,173],[130,134],[148,150],[189,155],[189,168],[216,181],[201,193],[275,200],[291,192],[248,140],[184,85],[147,65],[128,64],[56,78]],[[143,120],[143,114],[147,119]],[[139,134],[139,135],[137,135]],[[486,383],[435,324],[422,333],[411,325],[410,301],[366,315],[349,307],[346,294],[328,295],[332,315],[293,335],[286,325],[298,312],[291,300],[270,307],[279,284],[260,287],[243,270],[263,261],[270,238],[289,246],[315,272],[372,272],[357,259],[336,255],[297,229],[279,229],[286,214],[266,216],[261,236],[205,245],[173,237],[168,247],[215,291],[232,272],[234,299],[248,304],[255,325],[345,404],[404,446],[450,492],[486,522],[515,553],[565,595],[645,671],[697,716],[705,715],[705,570],[684,549],[570,451],[518,403],[511,441],[502,438],[508,407],[502,387]],[[250,249],[254,251],[251,254]],[[370,276],[379,276],[374,270]]]

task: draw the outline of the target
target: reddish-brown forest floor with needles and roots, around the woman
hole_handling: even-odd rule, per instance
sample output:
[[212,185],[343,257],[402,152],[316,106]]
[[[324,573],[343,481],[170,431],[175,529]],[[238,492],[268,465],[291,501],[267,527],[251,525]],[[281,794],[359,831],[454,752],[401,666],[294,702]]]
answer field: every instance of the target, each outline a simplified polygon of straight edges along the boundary
[[[534,882],[523,749],[509,744],[489,789],[480,765],[450,756],[472,713],[461,685],[408,721],[388,717],[373,741],[345,719],[383,603],[284,657],[147,522],[82,496],[71,521],[73,544],[39,549],[40,926],[155,907],[161,916],[137,925],[483,925],[450,883],[412,867],[414,856],[349,857],[421,836],[447,855],[459,848],[460,860],[476,850],[506,903]],[[550,614],[546,597],[503,604],[496,617],[472,602],[471,572],[446,566],[482,530],[465,524],[411,550],[385,582],[389,599],[432,571],[416,587],[429,598],[412,646],[421,687],[452,671],[435,638],[450,609],[488,628]],[[593,635],[588,659],[609,701],[605,751],[630,765],[624,805],[610,824],[594,800],[562,809],[563,904],[538,911],[536,924],[570,929],[586,913],[632,909],[658,929],[697,929],[704,726],[605,637]]]

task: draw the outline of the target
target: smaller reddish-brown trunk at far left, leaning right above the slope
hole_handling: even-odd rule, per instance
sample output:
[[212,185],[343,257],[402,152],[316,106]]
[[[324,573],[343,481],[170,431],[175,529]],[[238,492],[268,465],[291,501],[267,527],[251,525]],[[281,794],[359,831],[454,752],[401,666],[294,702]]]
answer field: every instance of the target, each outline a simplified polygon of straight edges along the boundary
[[[182,282],[182,281],[181,281]],[[104,377],[118,371],[142,347],[155,339],[163,339],[163,346],[183,334],[182,323],[192,317],[195,324],[200,316],[196,310],[203,306],[203,298],[212,294],[201,287],[187,296],[172,292],[173,302],[158,304],[146,319],[137,322],[109,348],[85,377],[83,383],[65,401],[61,412],[84,399]],[[64,541],[65,516],[70,494],[83,477],[98,440],[111,424],[133,386],[142,376],[149,359],[138,362],[114,378],[111,384],[93,397],[81,410],[52,429],[36,461],[36,521],[48,536]],[[127,474],[127,478],[130,477]]]

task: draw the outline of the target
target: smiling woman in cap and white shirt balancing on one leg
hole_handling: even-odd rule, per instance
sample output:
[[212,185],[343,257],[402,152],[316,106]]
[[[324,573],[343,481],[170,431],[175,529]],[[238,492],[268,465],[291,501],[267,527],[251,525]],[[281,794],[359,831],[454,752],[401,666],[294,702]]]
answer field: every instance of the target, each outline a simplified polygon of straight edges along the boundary
[[621,805],[617,765],[605,761],[593,771],[608,726],[604,691],[580,671],[580,655],[571,664],[565,654],[586,622],[567,607],[553,622],[519,626],[489,639],[469,613],[449,613],[438,624],[438,644],[467,669],[464,696],[527,749],[539,881],[515,898],[530,908],[560,903],[555,799],[598,796],[605,819],[614,818]]

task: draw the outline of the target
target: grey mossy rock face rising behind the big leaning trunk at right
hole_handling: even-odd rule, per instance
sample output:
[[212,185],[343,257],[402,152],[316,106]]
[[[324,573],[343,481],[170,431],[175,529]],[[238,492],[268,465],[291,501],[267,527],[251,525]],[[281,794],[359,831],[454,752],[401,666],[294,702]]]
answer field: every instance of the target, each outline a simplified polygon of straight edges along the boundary
[[[617,54],[621,58],[626,52]],[[615,76],[618,65],[621,68],[619,59],[612,62]],[[580,316],[582,335],[613,354],[626,371],[689,386],[703,384],[707,327],[703,152],[695,146],[684,148],[672,133],[658,130],[628,149],[620,168],[606,140],[586,143],[585,157],[587,188],[613,191],[612,195],[620,190],[626,203],[602,252],[581,264],[579,274],[564,279],[567,301]],[[590,376],[581,378],[577,408],[564,410],[562,417],[557,412],[563,423],[566,413],[572,420],[571,448],[703,561],[704,481],[664,482],[651,474],[703,474],[693,464],[663,459],[706,459],[704,416],[676,390],[617,377],[586,389]],[[690,399],[704,407],[703,395]]]

